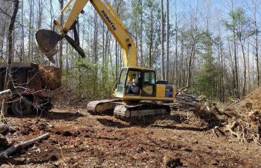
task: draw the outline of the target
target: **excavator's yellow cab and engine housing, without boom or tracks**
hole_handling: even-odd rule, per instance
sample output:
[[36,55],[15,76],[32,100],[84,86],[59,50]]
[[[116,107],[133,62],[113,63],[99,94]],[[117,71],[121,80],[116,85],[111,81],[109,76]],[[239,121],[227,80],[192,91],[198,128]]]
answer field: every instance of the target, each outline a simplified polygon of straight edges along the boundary
[[[138,92],[128,92],[128,80],[131,75],[136,74],[138,78]],[[175,100],[175,87],[174,85],[159,84],[156,81],[156,74],[153,69],[145,67],[125,67],[121,69],[121,75],[119,76],[117,90],[115,91],[115,97],[122,99],[123,101],[131,100],[153,100],[173,102]]]

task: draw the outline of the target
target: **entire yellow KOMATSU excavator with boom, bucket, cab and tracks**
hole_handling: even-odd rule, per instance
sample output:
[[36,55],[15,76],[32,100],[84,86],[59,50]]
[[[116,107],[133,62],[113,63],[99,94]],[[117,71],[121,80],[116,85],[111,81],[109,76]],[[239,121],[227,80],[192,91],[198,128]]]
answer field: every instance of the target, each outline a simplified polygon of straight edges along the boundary
[[[91,114],[102,115],[113,111],[116,118],[132,119],[146,116],[157,116],[170,113],[170,106],[159,102],[173,102],[175,100],[175,87],[168,85],[167,81],[156,80],[153,69],[137,66],[137,48],[129,31],[116,15],[108,1],[90,0],[91,4],[102,18],[109,31],[121,45],[124,59],[124,67],[118,79],[114,93],[116,99],[90,102],[87,111]],[[85,57],[83,49],[79,46],[79,38],[76,31],[76,18],[83,12],[88,0],[69,0],[65,8],[60,12],[65,13],[69,6],[69,13],[65,25],[54,20],[54,25],[60,29],[60,34],[55,31],[41,29],[36,32],[36,43],[39,50],[54,62],[53,55],[57,52],[56,44],[62,38],[75,48],[79,55]],[[60,17],[58,16],[58,18]],[[74,39],[67,35],[69,30],[74,31]]]

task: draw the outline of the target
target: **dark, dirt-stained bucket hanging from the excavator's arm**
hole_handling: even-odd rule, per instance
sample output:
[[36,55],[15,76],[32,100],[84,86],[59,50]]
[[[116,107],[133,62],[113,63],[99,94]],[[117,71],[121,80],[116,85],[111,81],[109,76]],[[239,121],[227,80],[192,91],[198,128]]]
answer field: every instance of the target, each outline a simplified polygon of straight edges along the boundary
[[57,43],[62,40],[62,36],[55,31],[40,29],[36,32],[36,44],[39,50],[55,63],[53,56],[58,52]]

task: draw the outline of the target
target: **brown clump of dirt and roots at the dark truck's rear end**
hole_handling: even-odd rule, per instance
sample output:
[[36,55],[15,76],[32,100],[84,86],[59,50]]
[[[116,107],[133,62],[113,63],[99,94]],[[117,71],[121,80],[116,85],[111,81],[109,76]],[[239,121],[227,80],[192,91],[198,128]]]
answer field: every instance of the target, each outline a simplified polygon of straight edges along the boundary
[[56,90],[62,87],[62,71],[54,66],[40,66],[41,83],[45,89]]

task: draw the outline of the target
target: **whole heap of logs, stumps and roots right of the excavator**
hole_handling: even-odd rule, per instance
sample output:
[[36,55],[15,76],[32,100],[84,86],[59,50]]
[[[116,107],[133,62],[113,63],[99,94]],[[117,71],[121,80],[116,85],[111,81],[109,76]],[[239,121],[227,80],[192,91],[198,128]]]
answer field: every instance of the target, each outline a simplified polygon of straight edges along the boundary
[[255,90],[220,111],[206,96],[195,97],[189,94],[188,87],[184,87],[176,92],[171,108],[192,111],[195,118],[206,120],[210,125],[219,125],[213,128],[216,135],[234,137],[241,143],[254,141],[261,146],[261,90]]

